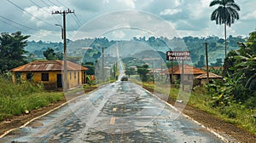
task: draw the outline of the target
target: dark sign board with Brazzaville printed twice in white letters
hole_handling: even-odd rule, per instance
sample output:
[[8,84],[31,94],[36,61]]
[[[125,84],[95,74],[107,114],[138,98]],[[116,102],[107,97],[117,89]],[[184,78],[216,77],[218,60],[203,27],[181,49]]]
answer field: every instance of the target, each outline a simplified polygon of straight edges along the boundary
[[166,60],[190,60],[190,51],[167,51]]

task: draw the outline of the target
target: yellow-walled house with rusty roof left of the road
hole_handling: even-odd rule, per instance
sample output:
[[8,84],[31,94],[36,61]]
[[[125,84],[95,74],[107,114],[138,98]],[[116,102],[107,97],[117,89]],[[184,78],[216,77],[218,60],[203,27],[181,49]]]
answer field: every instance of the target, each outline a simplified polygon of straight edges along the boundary
[[[74,88],[86,82],[88,68],[67,61],[67,89]],[[64,74],[63,60],[38,60],[10,70],[13,81],[17,76],[21,80],[44,83],[45,89],[62,89]]]

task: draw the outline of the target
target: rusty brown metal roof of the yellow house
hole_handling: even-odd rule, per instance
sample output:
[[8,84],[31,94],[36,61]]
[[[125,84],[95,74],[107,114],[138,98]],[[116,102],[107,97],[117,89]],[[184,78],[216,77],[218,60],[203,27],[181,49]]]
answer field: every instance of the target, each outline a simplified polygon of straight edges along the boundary
[[[64,69],[63,60],[38,60],[23,66],[16,67],[11,72],[42,72],[42,71],[61,71]],[[67,61],[67,70],[85,71],[88,68],[80,66],[71,61]]]

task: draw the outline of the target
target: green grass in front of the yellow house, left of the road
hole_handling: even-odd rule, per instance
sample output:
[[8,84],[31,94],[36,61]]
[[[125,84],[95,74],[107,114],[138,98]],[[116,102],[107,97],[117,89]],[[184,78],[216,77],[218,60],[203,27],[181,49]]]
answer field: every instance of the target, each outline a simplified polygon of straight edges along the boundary
[[0,121],[14,115],[49,106],[64,98],[61,92],[44,91],[42,84],[12,83],[0,77]]

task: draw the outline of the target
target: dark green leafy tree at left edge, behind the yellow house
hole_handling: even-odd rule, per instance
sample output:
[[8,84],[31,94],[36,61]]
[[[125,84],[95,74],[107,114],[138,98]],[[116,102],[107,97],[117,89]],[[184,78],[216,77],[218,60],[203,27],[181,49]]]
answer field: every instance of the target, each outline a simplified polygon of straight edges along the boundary
[[21,31],[9,34],[8,32],[1,33],[0,36],[0,73],[8,72],[17,66],[27,63],[24,49],[27,45],[27,38]]

